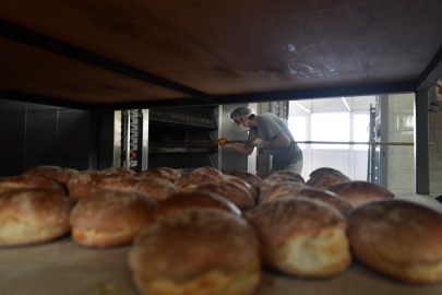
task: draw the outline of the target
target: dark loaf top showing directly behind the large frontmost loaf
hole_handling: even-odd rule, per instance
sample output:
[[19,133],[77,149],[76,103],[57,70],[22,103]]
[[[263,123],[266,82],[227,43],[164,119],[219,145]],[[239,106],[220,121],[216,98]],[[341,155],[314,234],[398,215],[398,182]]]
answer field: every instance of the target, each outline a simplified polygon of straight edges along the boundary
[[219,196],[204,191],[184,191],[160,202],[155,210],[154,219],[189,209],[216,209],[241,215],[241,211],[232,202]]

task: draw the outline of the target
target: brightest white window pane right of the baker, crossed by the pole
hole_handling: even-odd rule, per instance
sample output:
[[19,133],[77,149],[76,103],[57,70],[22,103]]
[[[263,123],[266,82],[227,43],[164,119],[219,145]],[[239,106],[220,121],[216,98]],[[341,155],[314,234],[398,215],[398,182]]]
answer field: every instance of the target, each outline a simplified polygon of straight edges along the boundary
[[[323,113],[311,115],[312,141],[349,141],[349,113]],[[348,150],[348,144],[312,144],[314,150]]]

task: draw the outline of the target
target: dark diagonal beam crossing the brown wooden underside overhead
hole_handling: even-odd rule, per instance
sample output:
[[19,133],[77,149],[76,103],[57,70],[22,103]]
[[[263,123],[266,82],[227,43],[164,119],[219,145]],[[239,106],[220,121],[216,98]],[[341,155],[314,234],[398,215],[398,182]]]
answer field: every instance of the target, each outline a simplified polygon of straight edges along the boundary
[[55,38],[45,36],[37,32],[11,24],[0,20],[0,36],[26,44],[59,56],[71,58],[94,67],[98,67],[108,71],[112,71],[132,79],[147,82],[164,88],[168,88],[178,93],[182,93],[195,98],[200,98],[207,103],[213,101],[213,96],[204,92],[181,85],[170,80],[154,75],[152,73],[142,71],[140,69],[127,66],[119,61],[105,58],[103,56],[84,50],[76,46],[57,40]]

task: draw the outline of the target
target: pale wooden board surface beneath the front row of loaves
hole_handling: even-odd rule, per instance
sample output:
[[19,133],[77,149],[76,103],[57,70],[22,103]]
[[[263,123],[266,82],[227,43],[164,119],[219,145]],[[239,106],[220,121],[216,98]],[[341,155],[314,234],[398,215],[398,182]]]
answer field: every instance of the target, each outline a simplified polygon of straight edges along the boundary
[[[0,248],[0,294],[135,295],[127,266],[130,247],[92,249],[70,237]],[[255,295],[440,295],[442,284],[407,284],[354,262],[325,280],[307,280],[266,270]]]

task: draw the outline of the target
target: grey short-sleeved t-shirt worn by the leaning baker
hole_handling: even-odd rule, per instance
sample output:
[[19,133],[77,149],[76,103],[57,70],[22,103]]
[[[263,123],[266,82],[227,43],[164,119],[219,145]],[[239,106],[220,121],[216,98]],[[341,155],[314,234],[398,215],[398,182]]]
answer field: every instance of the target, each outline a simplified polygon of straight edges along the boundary
[[[248,140],[252,141],[255,138],[260,138],[264,141],[272,140],[280,131],[286,132],[290,141],[295,141],[287,125],[283,122],[276,115],[272,113],[264,113],[256,115],[258,127],[250,128]],[[247,148],[252,149],[253,145],[246,144]],[[302,151],[299,149],[296,142],[292,142],[288,146],[283,148],[264,148],[264,150],[273,155],[272,168],[275,170],[282,170],[288,165],[302,160]]]

